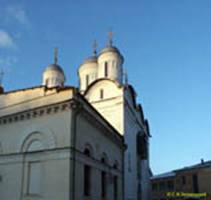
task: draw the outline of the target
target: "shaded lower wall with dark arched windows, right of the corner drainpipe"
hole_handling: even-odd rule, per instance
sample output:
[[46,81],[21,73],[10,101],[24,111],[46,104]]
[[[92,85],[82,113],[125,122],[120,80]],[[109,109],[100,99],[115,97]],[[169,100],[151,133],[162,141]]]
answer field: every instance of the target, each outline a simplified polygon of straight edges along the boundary
[[[89,163],[91,166],[91,197],[90,199],[99,200],[101,197],[101,172],[106,172],[107,195],[106,199],[114,199],[114,175],[118,176],[118,200],[122,199],[122,161],[123,154],[120,147],[115,142],[109,141],[105,136],[105,130],[98,126],[93,126],[94,121],[87,121],[87,116],[80,115],[77,123],[77,149],[83,152],[86,146],[91,148],[91,157],[87,158],[80,152],[77,153],[76,160],[76,185],[83,186],[83,167]],[[91,122],[91,123],[90,123]],[[101,159],[106,155],[106,165],[101,163]],[[118,163],[118,169],[115,170],[113,165]],[[84,199],[81,193],[81,187],[76,188],[76,199]]]

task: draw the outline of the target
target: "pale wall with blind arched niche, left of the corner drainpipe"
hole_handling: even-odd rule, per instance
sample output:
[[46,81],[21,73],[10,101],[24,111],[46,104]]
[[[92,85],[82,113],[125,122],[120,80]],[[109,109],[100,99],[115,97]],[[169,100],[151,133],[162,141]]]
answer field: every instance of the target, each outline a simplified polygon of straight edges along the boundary
[[[0,126],[0,199],[68,199],[70,121],[66,111]],[[29,176],[31,163],[40,165],[34,165],[35,177]]]

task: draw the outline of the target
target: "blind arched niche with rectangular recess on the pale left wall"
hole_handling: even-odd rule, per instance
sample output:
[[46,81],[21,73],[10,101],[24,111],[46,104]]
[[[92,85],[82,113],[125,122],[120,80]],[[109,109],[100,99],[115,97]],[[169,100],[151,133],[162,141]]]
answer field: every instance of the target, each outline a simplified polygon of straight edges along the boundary
[[[22,196],[42,195],[43,162],[41,155],[43,150],[54,149],[56,140],[53,133],[47,128],[30,126],[23,132],[23,139],[19,143],[23,156]],[[30,153],[34,152],[34,153]]]

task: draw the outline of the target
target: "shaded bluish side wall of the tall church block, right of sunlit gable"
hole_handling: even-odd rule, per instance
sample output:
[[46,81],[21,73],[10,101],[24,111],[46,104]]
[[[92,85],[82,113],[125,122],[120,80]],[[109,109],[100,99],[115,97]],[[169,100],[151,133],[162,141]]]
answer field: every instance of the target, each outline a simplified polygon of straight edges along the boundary
[[[128,193],[128,199],[137,199],[138,190],[141,191],[141,199],[148,200],[149,199],[149,187],[150,187],[150,175],[149,175],[149,160],[142,160],[137,155],[137,134],[142,132],[146,133],[145,125],[141,119],[141,115],[137,110],[136,102],[134,102],[134,98],[136,98],[136,94],[132,96],[131,90],[127,88],[125,90],[125,141],[127,141],[128,149],[127,153],[131,153],[131,165],[132,165],[132,172],[125,174],[128,175],[128,179],[132,179],[132,183],[134,188],[131,189],[128,185],[125,185],[125,192]],[[149,159],[149,158],[148,158]],[[137,168],[137,163],[140,163],[140,168]],[[129,163],[128,157],[125,156],[125,168]],[[140,188],[138,189],[138,171],[141,173],[140,176]]]

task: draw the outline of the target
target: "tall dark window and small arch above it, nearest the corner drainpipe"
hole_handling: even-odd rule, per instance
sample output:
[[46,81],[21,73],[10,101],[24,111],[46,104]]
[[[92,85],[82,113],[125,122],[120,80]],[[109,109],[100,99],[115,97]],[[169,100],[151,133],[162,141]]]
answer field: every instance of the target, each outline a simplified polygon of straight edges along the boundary
[[[90,150],[85,148],[84,154],[90,157]],[[91,167],[87,164],[84,165],[84,195],[91,195]]]

